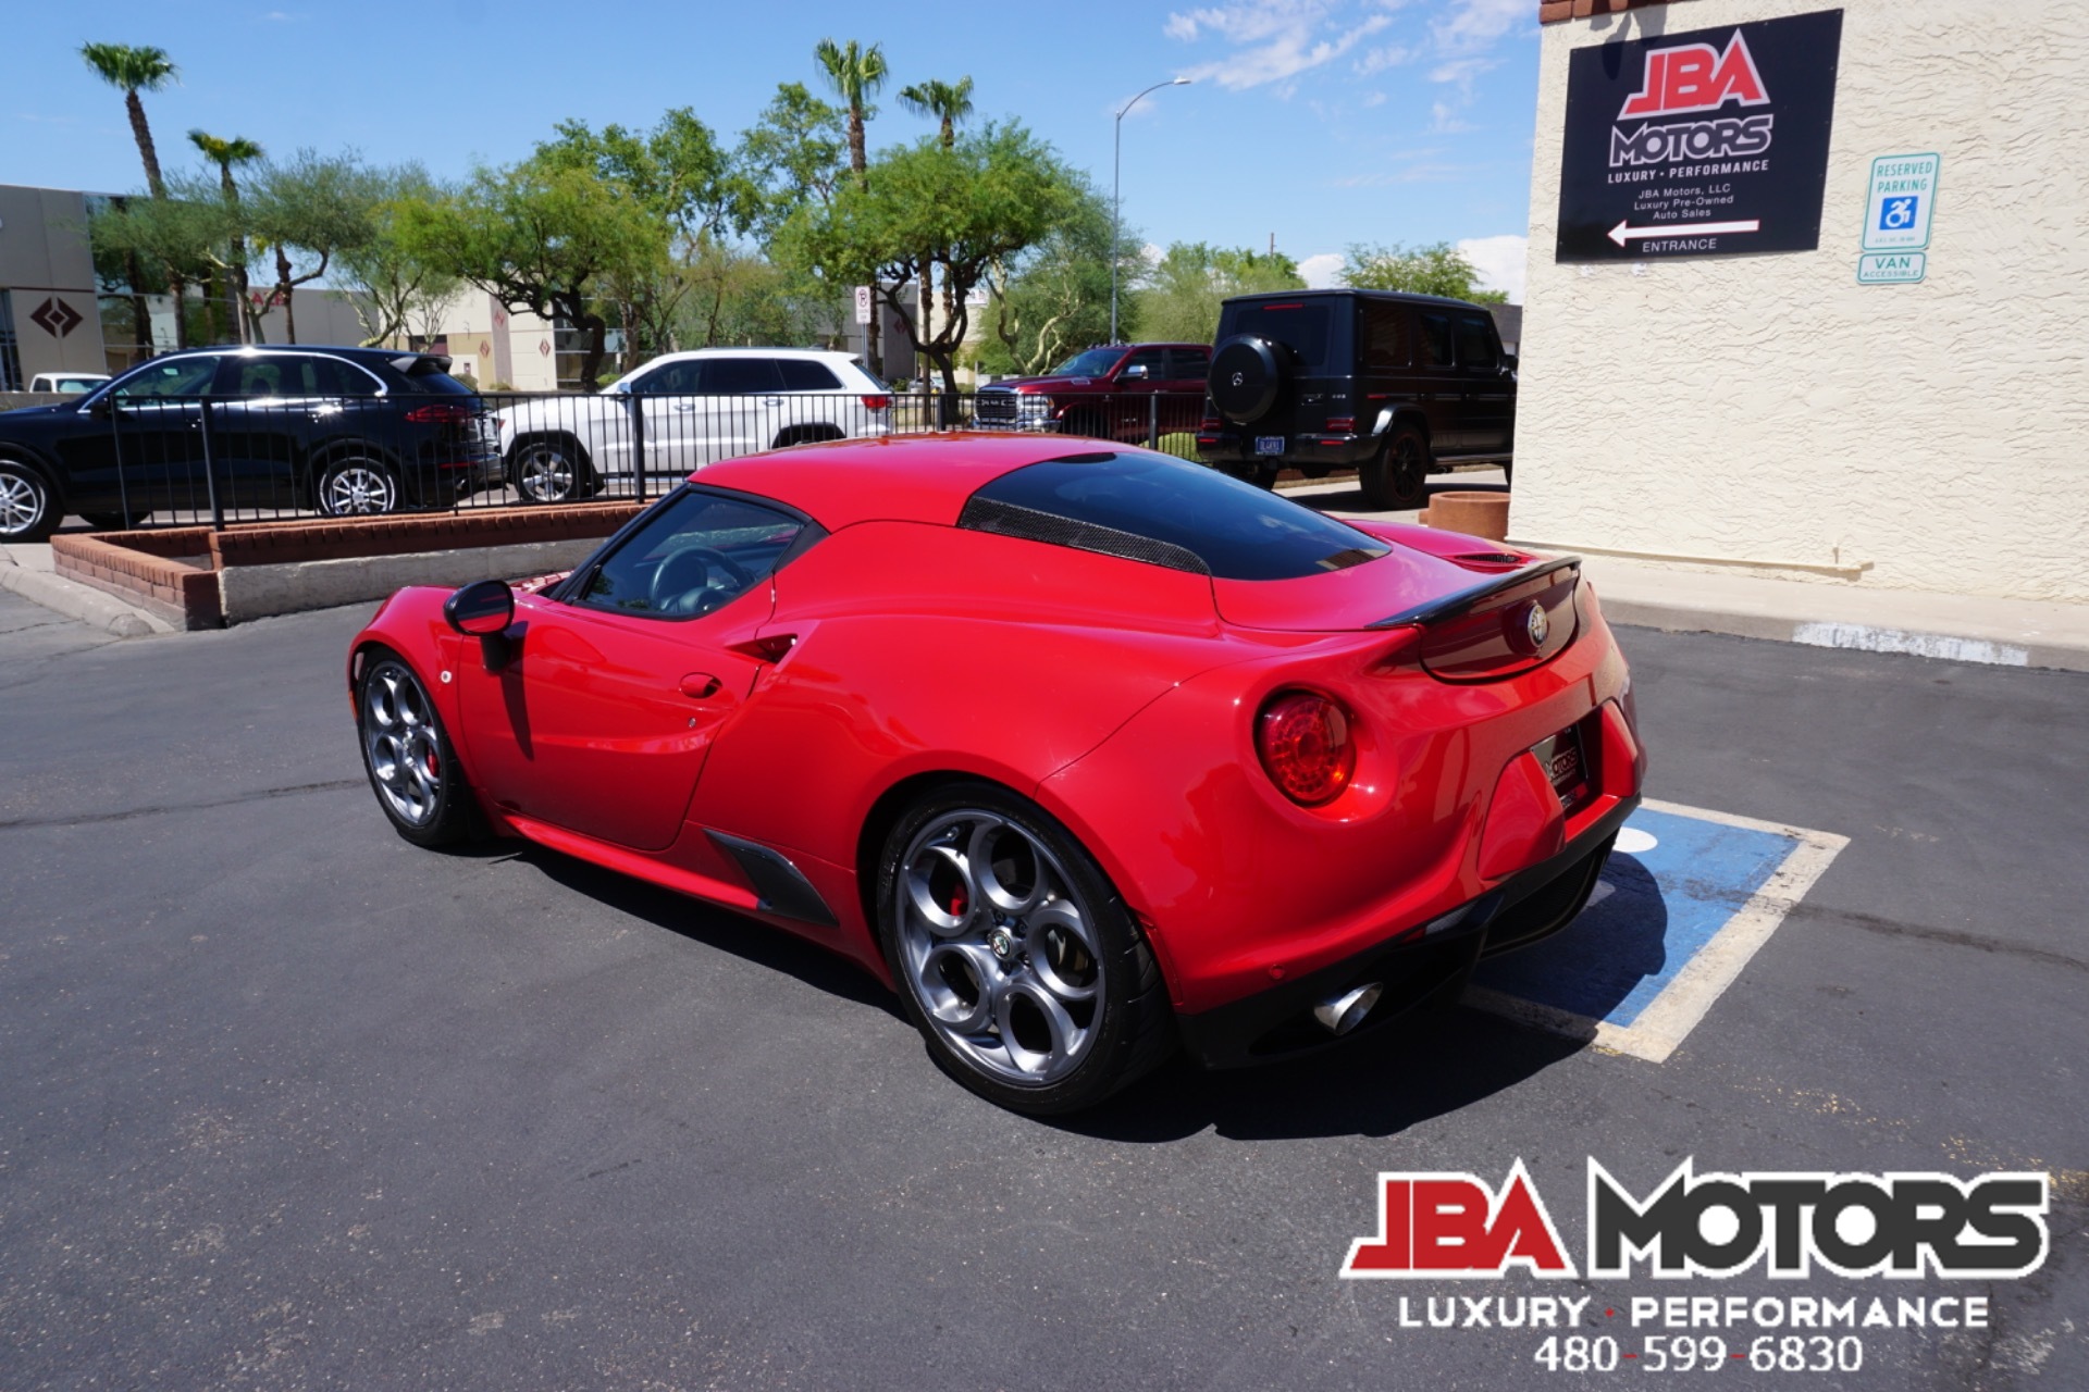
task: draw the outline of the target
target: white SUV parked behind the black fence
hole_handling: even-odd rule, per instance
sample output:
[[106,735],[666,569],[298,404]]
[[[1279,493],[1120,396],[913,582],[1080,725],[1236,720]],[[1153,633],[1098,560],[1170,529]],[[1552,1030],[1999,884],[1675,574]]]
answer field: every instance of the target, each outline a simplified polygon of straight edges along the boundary
[[643,422],[648,484],[765,449],[892,430],[888,388],[850,355],[817,349],[668,353],[597,394],[489,405],[501,422],[508,482],[531,503],[631,478],[633,415]]

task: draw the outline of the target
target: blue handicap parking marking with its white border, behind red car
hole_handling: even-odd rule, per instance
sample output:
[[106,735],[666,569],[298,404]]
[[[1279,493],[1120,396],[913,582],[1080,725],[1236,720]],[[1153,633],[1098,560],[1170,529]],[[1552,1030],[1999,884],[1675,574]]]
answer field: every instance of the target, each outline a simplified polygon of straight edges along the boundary
[[1663,1062],[1734,985],[1849,837],[1644,801],[1588,908],[1481,964],[1466,1004]]

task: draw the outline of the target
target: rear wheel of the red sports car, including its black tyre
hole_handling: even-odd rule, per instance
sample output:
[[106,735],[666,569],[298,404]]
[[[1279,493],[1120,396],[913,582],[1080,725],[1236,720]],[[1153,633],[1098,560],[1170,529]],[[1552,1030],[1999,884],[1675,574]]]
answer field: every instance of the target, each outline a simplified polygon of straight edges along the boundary
[[1174,1041],[1153,952],[1101,866],[1040,808],[953,783],[886,837],[886,960],[930,1054],[1001,1106],[1093,1106]]

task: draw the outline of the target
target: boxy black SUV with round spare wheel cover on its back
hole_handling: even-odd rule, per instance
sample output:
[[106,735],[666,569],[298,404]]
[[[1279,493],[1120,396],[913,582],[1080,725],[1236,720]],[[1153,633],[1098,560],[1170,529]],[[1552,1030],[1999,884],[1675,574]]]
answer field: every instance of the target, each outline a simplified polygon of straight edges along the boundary
[[1517,359],[1483,305],[1387,290],[1243,294],[1218,311],[1197,453],[1264,488],[1354,467],[1372,509],[1418,507],[1429,474],[1510,470]]

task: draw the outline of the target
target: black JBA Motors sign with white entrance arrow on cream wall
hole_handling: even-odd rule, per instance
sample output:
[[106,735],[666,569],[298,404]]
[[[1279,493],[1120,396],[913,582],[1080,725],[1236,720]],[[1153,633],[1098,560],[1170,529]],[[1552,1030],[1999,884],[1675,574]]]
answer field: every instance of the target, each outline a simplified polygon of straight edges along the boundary
[[1575,48],[1556,261],[1820,246],[1842,10]]

